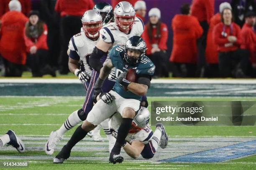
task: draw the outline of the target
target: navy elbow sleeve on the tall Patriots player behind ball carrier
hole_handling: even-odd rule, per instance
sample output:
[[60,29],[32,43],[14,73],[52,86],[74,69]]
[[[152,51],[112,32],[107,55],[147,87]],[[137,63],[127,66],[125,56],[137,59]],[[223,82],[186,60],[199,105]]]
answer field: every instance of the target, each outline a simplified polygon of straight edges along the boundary
[[100,59],[105,55],[107,56],[108,52],[104,52],[97,47],[94,47],[92,54],[90,55],[89,59],[89,65],[96,70],[97,72],[100,72],[101,67],[103,67],[102,62],[100,62]]

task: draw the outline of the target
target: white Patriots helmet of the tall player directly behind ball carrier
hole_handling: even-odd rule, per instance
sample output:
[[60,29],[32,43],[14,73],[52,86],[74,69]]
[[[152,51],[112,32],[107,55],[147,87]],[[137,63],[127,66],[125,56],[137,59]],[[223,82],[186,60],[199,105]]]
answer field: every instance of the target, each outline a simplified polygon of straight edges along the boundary
[[[129,2],[122,1],[115,6],[115,24],[121,31],[130,30],[135,20],[135,10]],[[131,19],[131,21],[120,21],[119,18]]]

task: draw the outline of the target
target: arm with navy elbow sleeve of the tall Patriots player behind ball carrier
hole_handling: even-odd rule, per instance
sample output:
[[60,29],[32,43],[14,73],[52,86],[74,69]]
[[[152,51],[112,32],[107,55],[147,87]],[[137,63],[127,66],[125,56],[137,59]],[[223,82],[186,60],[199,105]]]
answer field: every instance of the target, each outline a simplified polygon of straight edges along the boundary
[[108,55],[108,50],[110,47],[112,47],[112,45],[112,43],[99,40],[96,47],[94,47],[92,54],[90,55],[89,65],[97,72],[100,72],[100,69],[102,68],[100,58],[104,55]]

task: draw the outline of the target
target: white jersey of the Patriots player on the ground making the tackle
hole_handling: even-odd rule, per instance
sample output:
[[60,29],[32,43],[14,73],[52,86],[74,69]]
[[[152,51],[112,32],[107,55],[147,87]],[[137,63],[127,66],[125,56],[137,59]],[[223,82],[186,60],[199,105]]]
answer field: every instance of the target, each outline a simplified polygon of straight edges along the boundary
[[[146,109],[145,107],[141,107],[141,109]],[[120,113],[116,112],[108,122],[108,126],[112,135],[116,138],[118,133],[118,128],[121,125],[122,116]],[[145,145],[153,138],[153,131],[151,130],[150,126],[147,124],[145,128],[139,130],[136,133],[128,133],[125,140],[128,143],[132,143],[134,140],[141,141]]]

